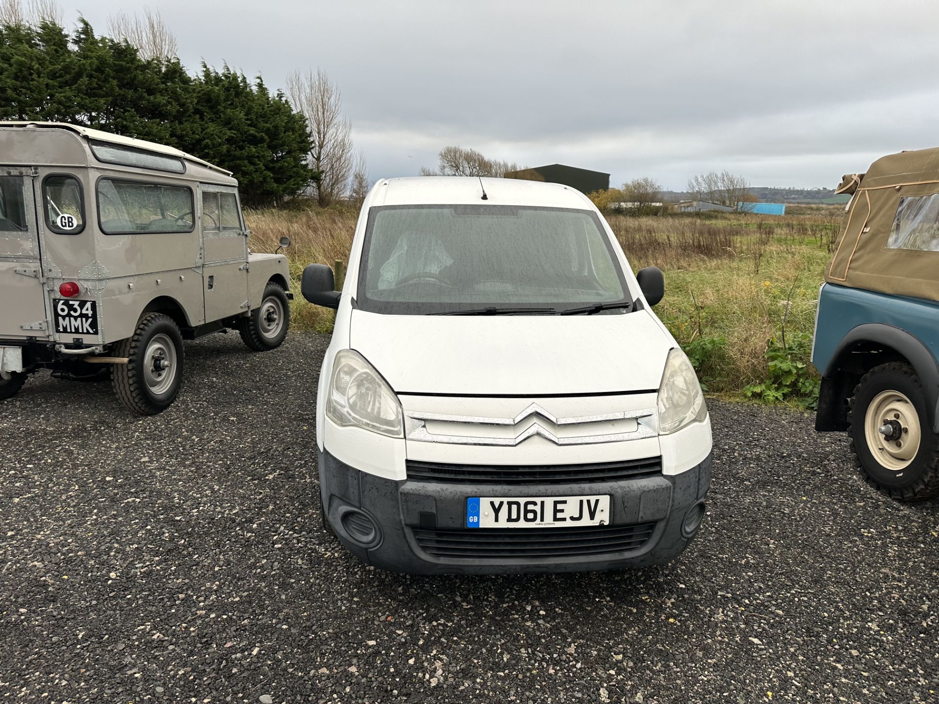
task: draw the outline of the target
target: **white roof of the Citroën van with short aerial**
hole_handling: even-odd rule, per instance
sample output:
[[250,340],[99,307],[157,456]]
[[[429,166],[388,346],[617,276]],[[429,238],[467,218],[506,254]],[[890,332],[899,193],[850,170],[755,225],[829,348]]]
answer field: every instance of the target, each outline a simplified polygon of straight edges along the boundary
[[[483,189],[488,196],[482,199]],[[591,209],[583,193],[560,183],[479,176],[411,176],[377,182],[371,206],[490,205]]]

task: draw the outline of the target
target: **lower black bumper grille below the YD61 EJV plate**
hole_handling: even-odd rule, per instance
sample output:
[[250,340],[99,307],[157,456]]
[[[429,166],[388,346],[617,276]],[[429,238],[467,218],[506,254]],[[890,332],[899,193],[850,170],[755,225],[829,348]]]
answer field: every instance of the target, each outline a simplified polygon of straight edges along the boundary
[[527,559],[606,555],[638,550],[654,523],[590,528],[412,528],[428,555],[454,559]]

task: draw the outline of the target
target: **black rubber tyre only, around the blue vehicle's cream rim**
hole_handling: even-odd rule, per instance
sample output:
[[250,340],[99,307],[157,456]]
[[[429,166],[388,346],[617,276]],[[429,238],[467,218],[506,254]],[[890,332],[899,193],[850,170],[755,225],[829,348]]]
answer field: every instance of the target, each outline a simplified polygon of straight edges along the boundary
[[[919,425],[916,455],[901,469],[886,467],[870,450],[868,437],[872,434],[868,421],[873,421],[875,417],[872,410],[871,417],[868,418],[868,409],[871,404],[883,403],[877,400],[888,398],[885,394],[905,397],[909,404],[905,401],[901,404],[913,407],[908,414],[896,415],[907,425],[914,422]],[[909,365],[903,362],[889,362],[874,367],[861,377],[854,388],[854,396],[849,401],[848,436],[857,459],[857,467],[870,486],[901,501],[917,501],[939,496],[939,435],[932,432],[928,419],[926,394],[916,377],[916,372]],[[901,440],[902,436],[898,439]],[[885,461],[891,460],[887,458]]]

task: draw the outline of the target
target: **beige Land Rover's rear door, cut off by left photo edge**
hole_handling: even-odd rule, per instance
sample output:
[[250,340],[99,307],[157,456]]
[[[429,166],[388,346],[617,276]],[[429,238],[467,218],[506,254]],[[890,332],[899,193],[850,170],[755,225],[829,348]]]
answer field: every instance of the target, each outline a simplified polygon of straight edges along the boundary
[[0,340],[49,336],[36,217],[36,177],[0,170]]

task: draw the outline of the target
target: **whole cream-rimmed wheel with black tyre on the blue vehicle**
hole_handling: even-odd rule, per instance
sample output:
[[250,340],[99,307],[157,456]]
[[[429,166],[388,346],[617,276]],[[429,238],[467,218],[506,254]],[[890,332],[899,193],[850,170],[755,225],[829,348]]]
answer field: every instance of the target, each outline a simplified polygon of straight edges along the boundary
[[926,394],[908,365],[881,364],[861,377],[848,435],[871,486],[904,501],[939,495],[939,436],[927,419]]

